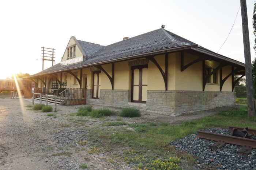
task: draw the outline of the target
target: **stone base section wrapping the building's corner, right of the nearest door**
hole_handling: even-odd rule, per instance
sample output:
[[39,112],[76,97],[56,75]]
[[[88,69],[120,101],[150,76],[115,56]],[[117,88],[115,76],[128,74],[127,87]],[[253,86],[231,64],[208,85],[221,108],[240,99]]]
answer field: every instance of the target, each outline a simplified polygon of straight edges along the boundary
[[209,110],[216,107],[233,106],[234,104],[234,92],[147,91],[147,110],[168,115],[180,115],[182,113]]

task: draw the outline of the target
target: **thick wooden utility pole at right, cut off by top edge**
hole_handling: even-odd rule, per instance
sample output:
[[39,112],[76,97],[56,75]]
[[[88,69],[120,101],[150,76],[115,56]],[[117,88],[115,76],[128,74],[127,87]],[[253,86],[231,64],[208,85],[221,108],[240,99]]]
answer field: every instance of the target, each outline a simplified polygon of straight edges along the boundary
[[246,77],[246,95],[248,103],[248,116],[255,116],[253,86],[252,86],[252,62],[248,29],[248,16],[246,0],[240,0],[242,15],[242,30],[244,39],[244,60],[245,60],[245,77]]

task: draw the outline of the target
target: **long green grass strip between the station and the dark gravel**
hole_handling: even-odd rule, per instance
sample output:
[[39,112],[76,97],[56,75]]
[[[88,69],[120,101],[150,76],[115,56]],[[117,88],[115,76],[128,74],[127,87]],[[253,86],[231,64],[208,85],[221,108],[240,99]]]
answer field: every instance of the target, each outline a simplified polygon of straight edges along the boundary
[[136,131],[120,129],[114,134],[105,130],[92,129],[92,133],[99,137],[117,143],[125,147],[139,147],[147,150],[168,146],[170,142],[180,139],[186,135],[196,133],[199,129],[206,128],[228,128],[229,126],[249,127],[256,129],[256,117],[247,116],[247,108],[241,107],[230,111],[220,112],[216,116],[205,117],[178,125],[147,126],[146,124],[129,124]]

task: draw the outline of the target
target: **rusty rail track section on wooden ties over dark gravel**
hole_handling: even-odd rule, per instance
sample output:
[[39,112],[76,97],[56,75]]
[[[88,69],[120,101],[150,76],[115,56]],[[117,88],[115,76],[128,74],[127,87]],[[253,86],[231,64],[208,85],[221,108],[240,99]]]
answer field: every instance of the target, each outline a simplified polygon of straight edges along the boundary
[[[244,127],[235,127],[235,126],[229,127],[229,131],[232,132],[232,134],[234,129],[237,129],[240,131],[247,130],[249,135],[255,135],[256,133],[256,129],[247,129]],[[197,130],[197,137],[217,141],[216,143],[210,146],[211,149],[220,149],[221,147],[225,146],[226,143],[240,145],[242,147],[237,151],[237,153],[241,155],[248,155],[251,153],[252,148],[256,148],[255,139],[210,133],[210,132],[200,131],[200,130]]]

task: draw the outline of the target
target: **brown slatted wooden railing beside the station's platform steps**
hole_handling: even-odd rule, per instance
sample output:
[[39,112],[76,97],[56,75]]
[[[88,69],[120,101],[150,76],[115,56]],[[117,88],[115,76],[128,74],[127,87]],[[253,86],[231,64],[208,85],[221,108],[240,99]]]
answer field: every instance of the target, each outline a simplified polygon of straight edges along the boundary
[[86,100],[86,88],[67,88],[59,95],[61,100],[66,101]]

